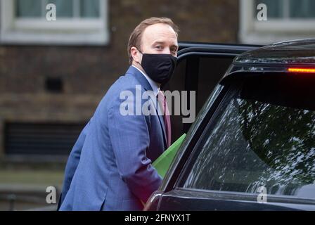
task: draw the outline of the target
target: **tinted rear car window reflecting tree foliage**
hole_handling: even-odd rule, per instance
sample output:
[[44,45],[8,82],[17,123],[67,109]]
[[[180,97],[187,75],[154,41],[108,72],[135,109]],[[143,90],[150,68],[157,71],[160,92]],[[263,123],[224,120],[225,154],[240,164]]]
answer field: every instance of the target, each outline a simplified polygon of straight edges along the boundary
[[[315,199],[314,78],[252,77],[231,91],[195,146],[181,187]],[[233,85],[231,86],[231,88]]]

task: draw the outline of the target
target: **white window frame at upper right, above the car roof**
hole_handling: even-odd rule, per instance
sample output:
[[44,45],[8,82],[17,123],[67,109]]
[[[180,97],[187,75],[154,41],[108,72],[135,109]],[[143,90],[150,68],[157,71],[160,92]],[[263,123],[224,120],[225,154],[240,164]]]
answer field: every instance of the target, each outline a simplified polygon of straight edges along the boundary
[[294,19],[281,18],[267,21],[255,19],[255,2],[240,0],[239,32],[241,43],[271,44],[288,39],[311,38],[315,35],[315,18]]

